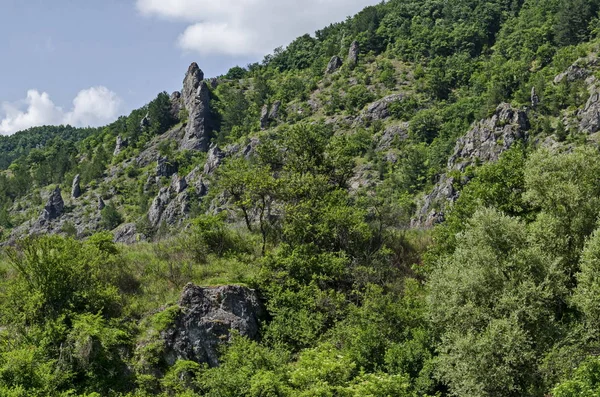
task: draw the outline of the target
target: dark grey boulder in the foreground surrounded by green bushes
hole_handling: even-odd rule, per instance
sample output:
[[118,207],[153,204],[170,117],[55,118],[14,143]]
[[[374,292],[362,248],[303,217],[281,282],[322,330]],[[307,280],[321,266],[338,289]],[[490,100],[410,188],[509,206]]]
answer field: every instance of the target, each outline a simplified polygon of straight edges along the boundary
[[181,311],[172,326],[162,332],[165,361],[190,360],[219,364],[219,347],[231,332],[256,339],[259,323],[266,315],[257,293],[246,287],[213,288],[185,286],[179,301]]

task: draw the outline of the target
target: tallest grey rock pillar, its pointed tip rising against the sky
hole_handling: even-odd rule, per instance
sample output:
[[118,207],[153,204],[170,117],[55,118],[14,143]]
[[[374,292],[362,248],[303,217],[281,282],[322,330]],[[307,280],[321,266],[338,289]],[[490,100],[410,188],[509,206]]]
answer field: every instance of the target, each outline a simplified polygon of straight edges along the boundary
[[194,62],[183,81],[183,103],[188,111],[188,124],[181,148],[206,151],[210,142],[210,92],[204,73]]

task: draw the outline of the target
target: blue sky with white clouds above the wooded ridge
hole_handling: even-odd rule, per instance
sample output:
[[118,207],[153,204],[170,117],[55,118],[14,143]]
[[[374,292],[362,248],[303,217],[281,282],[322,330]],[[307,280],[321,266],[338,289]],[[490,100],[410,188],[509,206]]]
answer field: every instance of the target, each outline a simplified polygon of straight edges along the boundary
[[0,134],[103,125],[379,0],[0,0]]

